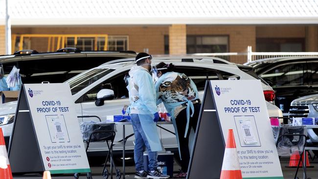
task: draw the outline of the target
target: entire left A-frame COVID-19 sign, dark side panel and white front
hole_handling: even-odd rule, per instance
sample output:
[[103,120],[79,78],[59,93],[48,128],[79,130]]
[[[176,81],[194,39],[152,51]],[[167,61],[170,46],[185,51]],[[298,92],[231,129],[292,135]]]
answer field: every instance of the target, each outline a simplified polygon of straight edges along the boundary
[[68,84],[22,86],[8,150],[12,173],[87,173],[91,179],[70,97]]

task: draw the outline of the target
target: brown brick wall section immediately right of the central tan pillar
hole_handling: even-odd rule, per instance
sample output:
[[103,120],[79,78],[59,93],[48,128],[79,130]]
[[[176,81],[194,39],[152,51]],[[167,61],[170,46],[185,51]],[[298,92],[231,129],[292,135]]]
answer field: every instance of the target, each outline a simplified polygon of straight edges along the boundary
[[[188,25],[187,35],[227,35],[229,52],[247,52],[250,45],[256,48],[255,26],[253,25]],[[231,62],[243,64],[246,56],[231,56]]]

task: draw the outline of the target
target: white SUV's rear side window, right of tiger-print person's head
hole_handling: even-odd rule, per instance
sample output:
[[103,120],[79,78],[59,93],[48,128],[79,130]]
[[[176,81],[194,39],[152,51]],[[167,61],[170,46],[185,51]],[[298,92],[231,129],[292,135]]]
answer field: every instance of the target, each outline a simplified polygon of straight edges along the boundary
[[216,69],[200,68],[200,67],[176,67],[176,72],[184,73],[196,84],[199,91],[204,90],[206,80],[227,80],[235,77],[240,79],[238,75],[227,73]]

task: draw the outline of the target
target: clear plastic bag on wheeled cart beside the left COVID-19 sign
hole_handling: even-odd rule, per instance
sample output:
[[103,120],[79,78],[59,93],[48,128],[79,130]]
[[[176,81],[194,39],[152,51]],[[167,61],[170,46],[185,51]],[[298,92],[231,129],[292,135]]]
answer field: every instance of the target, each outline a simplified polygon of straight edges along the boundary
[[[84,141],[88,141],[90,139],[90,135],[93,132],[96,131],[114,131],[117,132],[116,130],[116,125],[114,123],[107,123],[106,121],[104,122],[81,122],[79,123],[80,129],[82,132],[82,137]],[[92,134],[91,136],[91,141],[103,141],[103,140],[110,140],[111,137],[114,137],[114,133],[95,133]]]

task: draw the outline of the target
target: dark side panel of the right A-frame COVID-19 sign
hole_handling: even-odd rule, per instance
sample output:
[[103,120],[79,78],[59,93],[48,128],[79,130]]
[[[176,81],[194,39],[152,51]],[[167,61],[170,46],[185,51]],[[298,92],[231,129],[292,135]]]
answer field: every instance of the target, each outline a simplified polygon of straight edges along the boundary
[[211,84],[206,81],[186,179],[220,179],[224,150]]

